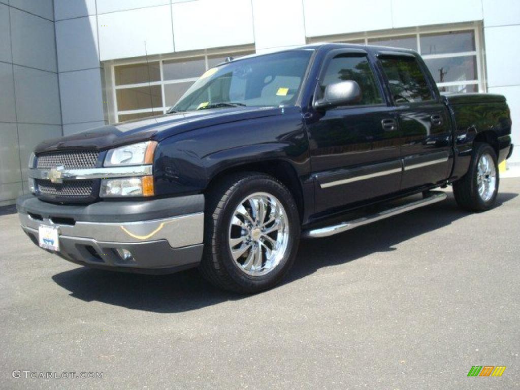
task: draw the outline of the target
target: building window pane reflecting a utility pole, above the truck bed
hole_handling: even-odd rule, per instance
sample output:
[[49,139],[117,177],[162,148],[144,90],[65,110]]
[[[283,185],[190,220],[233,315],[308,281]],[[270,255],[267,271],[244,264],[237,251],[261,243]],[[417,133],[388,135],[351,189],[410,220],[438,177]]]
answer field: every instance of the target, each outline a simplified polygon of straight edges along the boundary
[[436,83],[477,80],[476,56],[424,60]]

